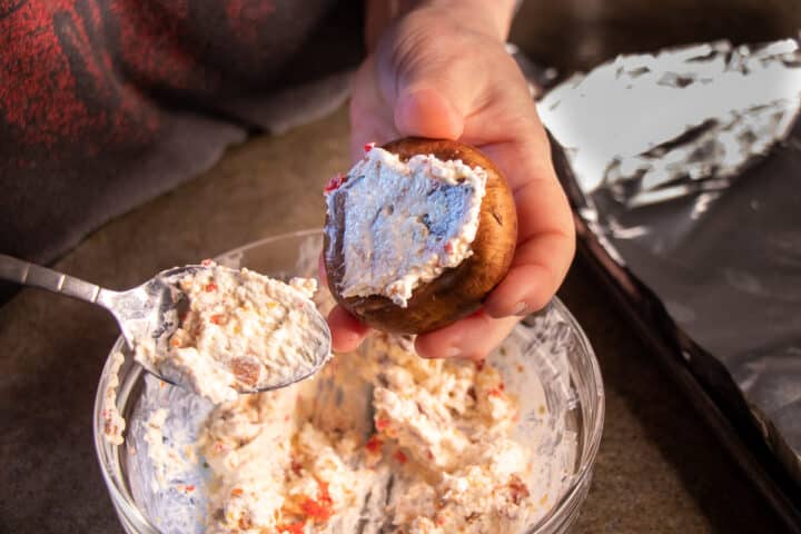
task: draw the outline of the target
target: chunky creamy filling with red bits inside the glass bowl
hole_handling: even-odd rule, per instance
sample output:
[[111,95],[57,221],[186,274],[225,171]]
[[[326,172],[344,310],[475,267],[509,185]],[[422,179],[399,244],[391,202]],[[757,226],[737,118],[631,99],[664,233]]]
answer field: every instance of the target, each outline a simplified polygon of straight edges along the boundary
[[[211,413],[199,441],[207,533],[356,532],[345,517],[379,487],[376,506],[409,534],[516,532],[541,505],[523,482],[534,451],[512,438],[517,402],[493,366],[423,359],[376,334],[317,379],[330,396],[308,383]],[[342,397],[365,388],[366,423]]]

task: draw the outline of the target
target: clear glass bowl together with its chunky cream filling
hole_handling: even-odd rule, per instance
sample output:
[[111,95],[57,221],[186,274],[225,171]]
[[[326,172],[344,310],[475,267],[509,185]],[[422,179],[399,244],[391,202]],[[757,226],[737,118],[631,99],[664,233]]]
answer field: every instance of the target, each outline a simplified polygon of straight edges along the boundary
[[[286,234],[216,259],[315,276],[322,239]],[[317,303],[330,305],[325,288]],[[566,532],[590,488],[604,395],[564,305],[525,318],[485,364],[413,350],[376,334],[303,383],[215,406],[147,374],[118,339],[93,427],[125,531]]]

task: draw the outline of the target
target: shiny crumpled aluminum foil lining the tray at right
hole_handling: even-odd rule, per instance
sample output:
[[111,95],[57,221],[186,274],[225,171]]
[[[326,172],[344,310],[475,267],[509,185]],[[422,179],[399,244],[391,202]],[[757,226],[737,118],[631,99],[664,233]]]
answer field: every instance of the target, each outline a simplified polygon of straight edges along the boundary
[[792,39],[622,56],[538,102],[583,222],[723,364],[799,484],[800,106]]

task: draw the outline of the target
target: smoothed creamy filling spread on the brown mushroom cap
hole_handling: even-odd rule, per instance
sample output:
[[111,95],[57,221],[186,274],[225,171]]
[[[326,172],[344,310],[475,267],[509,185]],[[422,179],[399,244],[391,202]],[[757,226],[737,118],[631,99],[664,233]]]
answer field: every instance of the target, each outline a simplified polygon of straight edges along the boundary
[[[344,197],[344,297],[383,295],[406,307],[415,288],[473,251],[487,174],[462,160],[408,161],[372,147],[326,188],[329,220]],[[330,230],[329,230],[330,231]]]

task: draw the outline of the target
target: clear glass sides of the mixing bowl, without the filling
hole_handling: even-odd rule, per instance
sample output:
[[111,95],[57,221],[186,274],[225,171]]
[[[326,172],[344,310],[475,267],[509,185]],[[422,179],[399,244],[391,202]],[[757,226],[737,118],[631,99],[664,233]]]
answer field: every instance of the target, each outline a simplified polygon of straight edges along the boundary
[[[277,278],[308,276],[309,273],[297,271],[298,265],[316,267],[320,245],[320,230],[297,231],[253,243],[224,254],[217,260],[221,265],[248,267]],[[537,373],[543,385],[543,398],[548,414],[558,419],[558,432],[552,441],[568,442],[571,447],[567,459],[558,466],[560,495],[553,497],[551,508],[541,514],[535,524],[527,526],[525,533],[564,533],[575,522],[590,490],[601,442],[604,418],[601,372],[584,333],[558,299],[554,298],[545,310],[527,317],[518,328],[525,330],[528,343],[523,356],[534,360],[537,358],[530,356],[534,352],[540,355]],[[103,403],[109,382],[113,379],[111,355],[117,352],[123,354],[125,362],[118,372],[119,386],[113,398],[117,409],[127,421],[134,415],[145,390],[147,373],[132,360],[125,342],[119,338],[103,367],[95,400],[95,447],[111,502],[125,531],[131,534],[158,533],[159,530],[147,517],[146,506],[135,498],[131,456],[136,452],[126,445],[110,444],[103,435]],[[563,365],[556,362],[563,362]],[[526,419],[525,414],[521,419]],[[129,437],[128,431],[126,437]]]

